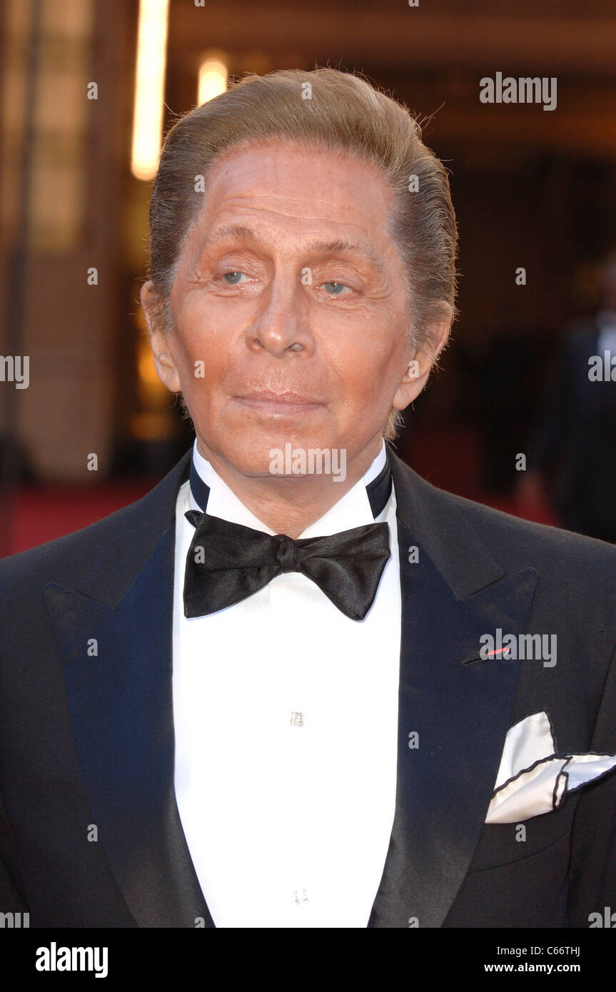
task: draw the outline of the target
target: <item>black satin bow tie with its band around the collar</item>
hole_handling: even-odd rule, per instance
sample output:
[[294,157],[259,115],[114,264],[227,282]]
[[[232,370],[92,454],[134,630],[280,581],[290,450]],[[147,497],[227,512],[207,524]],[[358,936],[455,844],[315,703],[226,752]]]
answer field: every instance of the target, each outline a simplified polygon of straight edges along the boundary
[[[190,487],[199,505],[205,506],[209,489],[194,465]],[[391,492],[389,459],[366,488],[372,512],[378,516]],[[251,596],[281,572],[300,571],[347,617],[363,620],[390,558],[385,523],[294,541],[285,534],[272,536],[198,510],[188,510],[185,517],[196,528],[186,557],[186,617],[215,613]]]

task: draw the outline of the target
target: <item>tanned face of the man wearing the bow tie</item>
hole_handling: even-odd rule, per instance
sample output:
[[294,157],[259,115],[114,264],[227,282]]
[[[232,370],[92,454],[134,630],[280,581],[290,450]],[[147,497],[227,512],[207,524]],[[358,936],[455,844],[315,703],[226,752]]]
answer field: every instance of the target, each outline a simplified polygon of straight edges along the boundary
[[347,463],[378,453],[392,406],[429,370],[406,375],[391,201],[376,167],[288,142],[216,163],[174,280],[174,330],[152,339],[206,458],[264,475],[288,442],[344,448]]

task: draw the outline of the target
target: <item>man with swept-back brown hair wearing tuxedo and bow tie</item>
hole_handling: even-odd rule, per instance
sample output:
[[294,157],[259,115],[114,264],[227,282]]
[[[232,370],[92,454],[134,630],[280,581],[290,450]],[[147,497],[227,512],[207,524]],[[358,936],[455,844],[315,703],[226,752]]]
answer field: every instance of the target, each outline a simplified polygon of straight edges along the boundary
[[0,566],[3,908],[588,927],[613,902],[616,552],[383,440],[445,344],[455,242],[442,166],[352,75],[250,77],[172,129],[142,302],[195,445]]

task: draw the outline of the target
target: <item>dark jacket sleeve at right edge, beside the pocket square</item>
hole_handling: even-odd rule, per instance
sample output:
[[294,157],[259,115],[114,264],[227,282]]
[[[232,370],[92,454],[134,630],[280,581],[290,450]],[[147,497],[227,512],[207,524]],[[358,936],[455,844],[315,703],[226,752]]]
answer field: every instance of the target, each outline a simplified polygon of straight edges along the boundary
[[[616,754],[616,650],[589,750]],[[611,927],[616,928],[616,770],[584,787],[573,821],[569,927],[588,928],[591,922],[601,926],[591,914],[599,914],[603,921],[609,918]]]

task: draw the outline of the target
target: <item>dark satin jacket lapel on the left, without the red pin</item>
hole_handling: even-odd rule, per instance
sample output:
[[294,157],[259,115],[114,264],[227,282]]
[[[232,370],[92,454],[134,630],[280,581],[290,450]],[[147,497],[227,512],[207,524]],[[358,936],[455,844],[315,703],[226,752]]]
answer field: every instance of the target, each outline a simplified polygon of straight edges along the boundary
[[115,607],[57,583],[45,592],[83,786],[130,912],[139,927],[213,927],[174,790],[174,544],[169,527]]

